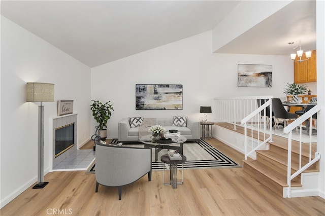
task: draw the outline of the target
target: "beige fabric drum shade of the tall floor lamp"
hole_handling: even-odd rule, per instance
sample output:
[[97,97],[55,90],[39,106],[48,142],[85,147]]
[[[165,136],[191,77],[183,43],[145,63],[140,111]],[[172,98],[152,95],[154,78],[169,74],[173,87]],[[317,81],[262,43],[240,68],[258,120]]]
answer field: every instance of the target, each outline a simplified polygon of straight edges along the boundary
[[54,84],[27,83],[27,102],[54,101]]

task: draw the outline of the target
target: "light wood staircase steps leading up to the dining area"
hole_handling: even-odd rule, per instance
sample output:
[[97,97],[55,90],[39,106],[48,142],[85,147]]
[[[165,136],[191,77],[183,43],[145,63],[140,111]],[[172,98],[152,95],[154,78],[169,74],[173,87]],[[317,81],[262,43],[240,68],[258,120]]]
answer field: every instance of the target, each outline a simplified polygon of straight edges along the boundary
[[[234,126],[229,123],[217,123],[217,125],[233,130]],[[244,133],[244,128],[237,126],[238,133]],[[247,130],[247,134],[252,134],[253,138],[258,139],[264,137],[262,132]],[[266,136],[268,138],[268,136]],[[248,158],[243,161],[243,170],[249,173],[260,184],[265,185],[272,191],[283,197],[283,188],[287,185],[287,150],[288,139],[273,134],[272,142],[268,142],[269,150],[257,150],[256,159]],[[309,162],[310,143],[301,143],[302,146],[302,165]],[[317,151],[317,143],[311,143],[311,159],[314,159],[314,154]],[[291,173],[299,169],[299,154],[300,143],[291,141]],[[319,161],[311,165],[304,172],[318,172]],[[298,175],[291,181],[291,187],[302,187],[301,175]],[[308,187],[308,184],[307,184]]]

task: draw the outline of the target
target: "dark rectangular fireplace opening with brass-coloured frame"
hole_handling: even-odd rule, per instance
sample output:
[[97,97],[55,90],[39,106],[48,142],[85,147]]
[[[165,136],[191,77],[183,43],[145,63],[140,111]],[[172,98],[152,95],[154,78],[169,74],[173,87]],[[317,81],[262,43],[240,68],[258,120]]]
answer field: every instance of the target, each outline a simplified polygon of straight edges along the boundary
[[55,157],[74,146],[74,123],[55,129]]

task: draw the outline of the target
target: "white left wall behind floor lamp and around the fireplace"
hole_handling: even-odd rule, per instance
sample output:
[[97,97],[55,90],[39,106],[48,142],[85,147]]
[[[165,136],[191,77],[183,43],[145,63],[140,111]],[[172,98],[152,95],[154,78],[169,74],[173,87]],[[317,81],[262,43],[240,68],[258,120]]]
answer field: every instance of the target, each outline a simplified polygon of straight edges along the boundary
[[57,100],[73,99],[78,143],[90,137],[90,68],[1,17],[1,207],[37,182],[38,105],[26,102],[26,82],[55,84],[44,102],[44,169],[51,169]]

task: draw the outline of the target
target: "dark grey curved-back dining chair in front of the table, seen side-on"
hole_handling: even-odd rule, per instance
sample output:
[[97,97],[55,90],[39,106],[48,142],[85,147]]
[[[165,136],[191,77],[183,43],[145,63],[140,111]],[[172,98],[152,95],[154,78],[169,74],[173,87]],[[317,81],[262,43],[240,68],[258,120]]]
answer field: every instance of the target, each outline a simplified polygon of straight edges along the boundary
[[[275,124],[278,126],[279,129],[279,120],[283,120],[283,128],[286,127],[287,121],[295,120],[298,118],[298,115],[295,113],[288,113],[280,98],[272,98],[272,111],[274,113]],[[297,129],[297,128],[296,128]]]

